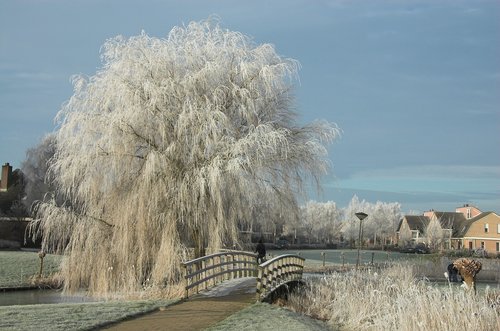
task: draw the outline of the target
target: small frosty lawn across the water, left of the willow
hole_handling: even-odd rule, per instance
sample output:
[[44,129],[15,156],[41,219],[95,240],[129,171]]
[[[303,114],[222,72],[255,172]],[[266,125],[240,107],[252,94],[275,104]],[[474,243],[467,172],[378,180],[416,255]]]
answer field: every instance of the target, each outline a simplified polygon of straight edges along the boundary
[[[57,272],[61,258],[46,255],[42,276]],[[26,287],[32,285],[32,278],[40,272],[40,258],[37,252],[0,251],[0,266],[0,288]]]

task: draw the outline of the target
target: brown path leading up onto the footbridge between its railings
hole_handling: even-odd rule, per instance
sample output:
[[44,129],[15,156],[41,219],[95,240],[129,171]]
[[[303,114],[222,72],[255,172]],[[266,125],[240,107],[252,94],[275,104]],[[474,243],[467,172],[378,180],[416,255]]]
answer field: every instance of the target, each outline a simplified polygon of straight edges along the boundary
[[254,303],[255,285],[255,278],[228,281],[186,301],[105,330],[204,330]]

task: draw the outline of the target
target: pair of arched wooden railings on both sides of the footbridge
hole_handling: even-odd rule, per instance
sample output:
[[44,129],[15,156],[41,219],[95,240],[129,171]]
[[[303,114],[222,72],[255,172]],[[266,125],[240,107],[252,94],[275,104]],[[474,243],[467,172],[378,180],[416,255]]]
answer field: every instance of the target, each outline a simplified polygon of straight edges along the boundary
[[227,250],[184,262],[184,297],[199,293],[224,281],[256,278],[256,300],[267,299],[285,285],[302,280],[304,258],[294,254],[280,255],[262,264],[251,252]]

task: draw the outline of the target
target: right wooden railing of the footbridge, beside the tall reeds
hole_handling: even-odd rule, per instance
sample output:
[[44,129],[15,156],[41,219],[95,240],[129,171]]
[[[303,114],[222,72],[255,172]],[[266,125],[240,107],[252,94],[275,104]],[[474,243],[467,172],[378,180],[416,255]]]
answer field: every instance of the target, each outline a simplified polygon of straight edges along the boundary
[[284,283],[302,279],[305,259],[294,254],[277,256],[258,266],[257,293],[258,301]]

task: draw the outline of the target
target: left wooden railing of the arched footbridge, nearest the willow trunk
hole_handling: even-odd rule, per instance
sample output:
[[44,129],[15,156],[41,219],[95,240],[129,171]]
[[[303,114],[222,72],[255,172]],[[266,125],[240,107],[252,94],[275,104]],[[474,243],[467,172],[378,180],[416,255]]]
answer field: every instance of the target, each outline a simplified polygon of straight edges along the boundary
[[203,256],[182,263],[184,269],[184,297],[205,290],[225,280],[255,277],[257,255],[250,252],[230,251]]

